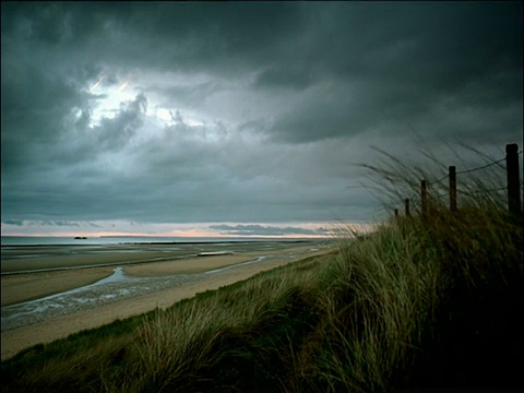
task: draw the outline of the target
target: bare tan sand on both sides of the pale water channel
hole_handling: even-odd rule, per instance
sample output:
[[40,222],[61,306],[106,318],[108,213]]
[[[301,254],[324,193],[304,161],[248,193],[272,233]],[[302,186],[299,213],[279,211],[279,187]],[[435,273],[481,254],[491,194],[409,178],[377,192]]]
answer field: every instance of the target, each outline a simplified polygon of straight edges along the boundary
[[[241,279],[267,271],[276,266],[288,264],[311,255],[319,255],[331,251],[330,245],[289,245],[267,249],[252,249],[243,247],[238,254],[221,254],[176,259],[171,261],[147,262],[123,265],[126,273],[135,277],[156,277],[177,275],[188,272],[188,269],[209,271],[218,270],[217,273],[198,273],[203,278],[189,281],[187,284],[155,290],[111,303],[100,303],[98,307],[71,311],[57,318],[45,320],[31,325],[2,331],[1,348],[2,360],[15,355],[17,352],[66,337],[85,329],[98,327],[117,319],[142,314],[156,307],[167,308],[176,301],[194,296],[198,293],[217,289]],[[252,262],[263,255],[262,260]],[[228,267],[229,266],[229,267]],[[219,270],[219,267],[225,267]],[[107,277],[112,273],[115,265],[92,269],[74,269],[66,271],[51,271],[45,273],[23,273],[2,275],[2,306],[4,294],[7,301],[21,301],[24,297],[35,298],[46,290],[62,290],[88,285],[97,278]],[[145,279],[145,278],[140,278]],[[150,278],[147,278],[150,279]],[[157,278],[153,278],[157,279]],[[17,287],[23,287],[20,289]]]

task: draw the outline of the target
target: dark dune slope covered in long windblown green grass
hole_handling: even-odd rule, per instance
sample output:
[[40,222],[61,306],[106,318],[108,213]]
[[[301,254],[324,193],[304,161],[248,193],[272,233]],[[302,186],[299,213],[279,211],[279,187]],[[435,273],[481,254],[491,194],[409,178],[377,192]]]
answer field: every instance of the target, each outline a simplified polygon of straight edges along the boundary
[[331,254],[29,348],[2,392],[522,388],[522,218],[473,184],[458,212],[433,194]]

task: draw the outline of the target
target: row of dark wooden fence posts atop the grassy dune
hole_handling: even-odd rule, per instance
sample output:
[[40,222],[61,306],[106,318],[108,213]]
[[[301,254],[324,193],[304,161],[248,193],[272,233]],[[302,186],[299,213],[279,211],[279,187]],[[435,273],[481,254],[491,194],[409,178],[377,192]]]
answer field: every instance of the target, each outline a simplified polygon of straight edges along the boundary
[[[519,170],[519,145],[516,143],[505,145],[505,170],[508,179],[508,211],[510,215],[521,218],[521,180]],[[450,166],[449,174],[450,180],[450,211],[456,212],[456,167]],[[421,198],[421,214],[425,216],[428,212],[428,182],[426,180],[420,181],[420,198]],[[410,215],[409,212],[409,199],[404,200],[404,214]],[[395,217],[398,216],[398,209],[395,209]]]

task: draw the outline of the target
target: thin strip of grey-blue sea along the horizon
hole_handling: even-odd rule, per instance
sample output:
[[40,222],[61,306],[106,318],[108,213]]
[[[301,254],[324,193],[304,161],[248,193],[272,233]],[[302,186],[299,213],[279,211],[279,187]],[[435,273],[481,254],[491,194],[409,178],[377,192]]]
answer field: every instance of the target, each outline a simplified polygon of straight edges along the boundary
[[193,243],[234,241],[300,241],[301,239],[267,237],[155,237],[155,236],[103,236],[75,239],[58,236],[2,236],[2,246],[70,246],[70,245],[129,245],[129,243]]

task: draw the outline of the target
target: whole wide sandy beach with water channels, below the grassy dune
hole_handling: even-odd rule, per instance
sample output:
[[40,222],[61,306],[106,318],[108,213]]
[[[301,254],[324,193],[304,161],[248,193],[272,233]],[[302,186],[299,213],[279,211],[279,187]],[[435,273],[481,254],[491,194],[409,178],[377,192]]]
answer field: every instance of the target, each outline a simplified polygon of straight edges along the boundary
[[320,240],[2,247],[2,360],[331,249]]

